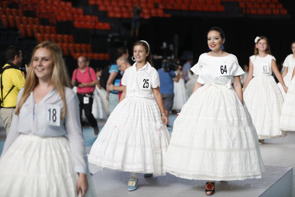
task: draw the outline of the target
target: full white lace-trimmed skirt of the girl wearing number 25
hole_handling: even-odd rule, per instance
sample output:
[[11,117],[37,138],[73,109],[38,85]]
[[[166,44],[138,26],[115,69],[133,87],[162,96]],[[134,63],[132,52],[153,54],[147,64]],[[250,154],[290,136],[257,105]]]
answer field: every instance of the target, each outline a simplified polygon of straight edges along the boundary
[[165,175],[163,160],[169,141],[156,101],[127,97],[109,116],[88,159],[113,170]]

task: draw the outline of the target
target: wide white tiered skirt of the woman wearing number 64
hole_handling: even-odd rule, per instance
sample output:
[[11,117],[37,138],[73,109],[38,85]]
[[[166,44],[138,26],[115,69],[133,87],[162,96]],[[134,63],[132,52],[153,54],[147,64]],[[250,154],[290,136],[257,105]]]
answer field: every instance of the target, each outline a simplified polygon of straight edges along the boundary
[[261,178],[255,127],[233,89],[208,84],[191,95],[174,121],[164,169],[186,179]]

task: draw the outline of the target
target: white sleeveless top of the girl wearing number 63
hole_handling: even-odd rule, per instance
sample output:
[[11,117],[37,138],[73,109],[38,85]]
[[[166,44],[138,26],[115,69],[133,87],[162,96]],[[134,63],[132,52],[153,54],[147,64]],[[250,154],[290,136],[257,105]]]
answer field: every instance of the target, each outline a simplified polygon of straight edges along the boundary
[[276,58],[272,55],[267,55],[265,57],[250,56],[250,61],[253,64],[253,76],[268,76],[273,73],[271,69],[272,61],[276,61]]

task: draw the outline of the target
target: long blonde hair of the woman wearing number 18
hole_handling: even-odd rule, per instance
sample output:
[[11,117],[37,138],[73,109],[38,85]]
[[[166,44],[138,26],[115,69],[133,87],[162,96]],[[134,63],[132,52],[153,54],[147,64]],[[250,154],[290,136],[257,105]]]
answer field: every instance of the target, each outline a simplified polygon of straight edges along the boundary
[[24,104],[24,102],[29,97],[30,93],[33,91],[33,89],[37,86],[39,83],[38,77],[35,74],[35,71],[33,69],[33,59],[34,55],[37,49],[39,48],[46,48],[50,51],[52,57],[53,57],[53,71],[51,76],[51,83],[53,87],[58,91],[60,94],[61,99],[63,100],[63,113],[61,115],[61,119],[65,118],[65,112],[66,112],[66,102],[65,102],[65,87],[70,87],[69,84],[69,77],[67,70],[65,68],[65,62],[63,61],[63,53],[61,48],[51,42],[51,41],[44,41],[40,44],[38,44],[33,51],[33,55],[31,58],[30,66],[28,68],[27,76],[26,76],[26,83],[24,84],[24,92],[22,93],[22,97],[19,100],[19,103],[17,105],[15,114],[19,114],[19,110]]

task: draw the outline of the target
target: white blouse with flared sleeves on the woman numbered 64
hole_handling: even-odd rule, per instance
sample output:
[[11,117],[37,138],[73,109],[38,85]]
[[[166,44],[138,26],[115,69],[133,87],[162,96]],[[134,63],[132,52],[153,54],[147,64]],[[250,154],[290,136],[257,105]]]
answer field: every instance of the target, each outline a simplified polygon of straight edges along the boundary
[[198,63],[191,68],[191,71],[199,75],[197,82],[201,84],[225,84],[228,88],[232,87],[233,76],[245,73],[235,55],[212,57],[207,53],[200,55]]

